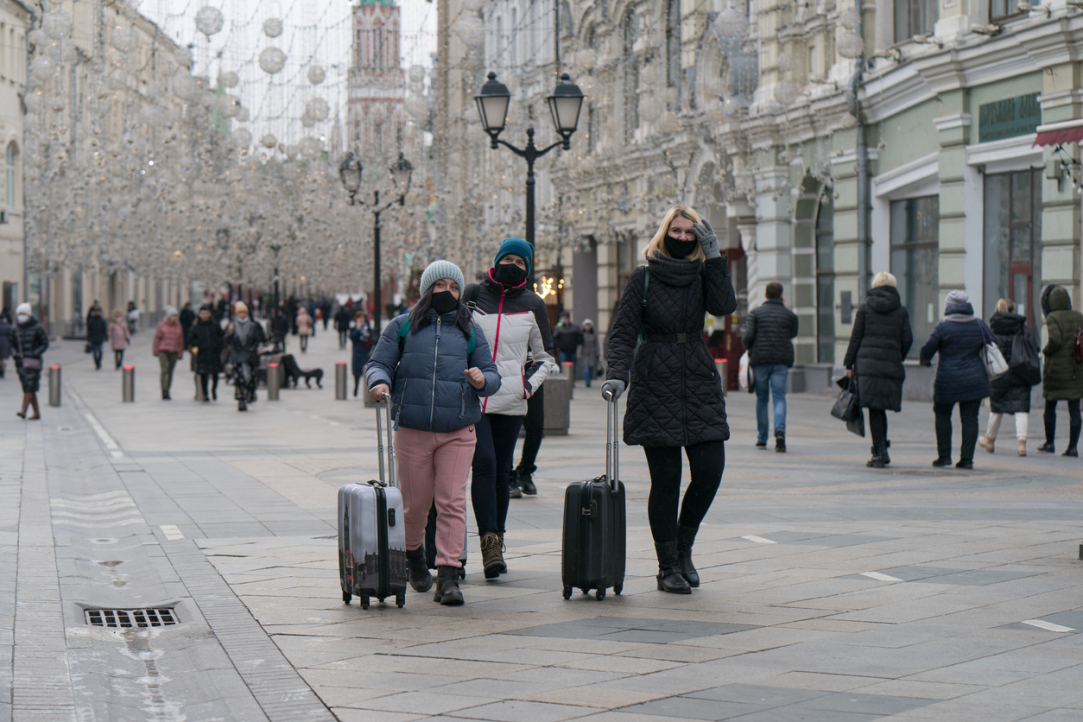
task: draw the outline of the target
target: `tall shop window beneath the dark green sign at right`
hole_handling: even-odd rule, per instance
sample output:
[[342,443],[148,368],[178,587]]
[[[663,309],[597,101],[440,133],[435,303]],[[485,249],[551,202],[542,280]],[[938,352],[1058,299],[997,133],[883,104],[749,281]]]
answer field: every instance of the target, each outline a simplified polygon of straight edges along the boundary
[[989,318],[997,300],[1012,299],[1016,313],[1035,329],[1041,320],[1042,171],[987,175],[983,195],[982,315]]

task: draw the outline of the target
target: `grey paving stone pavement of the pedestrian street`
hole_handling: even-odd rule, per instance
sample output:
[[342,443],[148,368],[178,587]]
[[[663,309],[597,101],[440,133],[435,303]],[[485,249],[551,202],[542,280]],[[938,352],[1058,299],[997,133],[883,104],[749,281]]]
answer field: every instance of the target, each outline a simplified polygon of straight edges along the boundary
[[[336,340],[301,366],[330,379]],[[464,607],[409,592],[363,612],[341,603],[335,503],[375,474],[373,410],[334,383],[200,404],[186,358],[164,402],[148,346],[128,354],[135,404],[58,342],[63,406],[0,415],[0,720],[1083,719],[1083,465],[1041,439],[932,469],[930,406],[908,404],[890,468],[869,470],[830,399],[791,396],[783,455],[753,448],[754,397],[731,394],[700,589],[655,590],[647,465],[624,447],[624,593],[565,602],[563,487],[604,468],[580,382],[539,495],[512,501],[510,572],[485,581],[471,534]],[[3,391],[17,403],[12,376]],[[87,607],[180,623],[104,630]]]

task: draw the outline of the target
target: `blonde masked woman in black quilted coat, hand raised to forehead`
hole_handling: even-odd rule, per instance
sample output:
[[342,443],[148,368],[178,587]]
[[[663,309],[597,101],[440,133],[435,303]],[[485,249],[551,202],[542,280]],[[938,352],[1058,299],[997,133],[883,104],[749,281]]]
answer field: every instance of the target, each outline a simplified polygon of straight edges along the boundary
[[[631,272],[617,304],[602,396],[619,396],[630,376],[624,442],[643,447],[651,471],[647,510],[658,589],[691,594],[700,586],[692,543],[718,491],[730,437],[703,320],[733,313],[738,301],[715,232],[687,206],[666,213],[644,255],[647,265]],[[692,481],[678,517],[681,447]]]

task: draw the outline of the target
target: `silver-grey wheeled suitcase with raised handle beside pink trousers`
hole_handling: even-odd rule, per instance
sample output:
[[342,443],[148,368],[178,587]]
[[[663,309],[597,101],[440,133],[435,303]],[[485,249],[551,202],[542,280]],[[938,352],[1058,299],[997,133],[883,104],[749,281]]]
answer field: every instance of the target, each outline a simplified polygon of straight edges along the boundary
[[[381,408],[382,407],[382,408]],[[384,438],[380,412],[387,418],[387,473]],[[395,478],[395,449],[392,442],[391,403],[377,405],[376,434],[379,438],[380,478],[364,484],[347,484],[339,489],[339,580],[342,602],[354,595],[361,608],[368,600],[380,602],[395,598],[400,607],[406,603],[406,521],[403,497]]]

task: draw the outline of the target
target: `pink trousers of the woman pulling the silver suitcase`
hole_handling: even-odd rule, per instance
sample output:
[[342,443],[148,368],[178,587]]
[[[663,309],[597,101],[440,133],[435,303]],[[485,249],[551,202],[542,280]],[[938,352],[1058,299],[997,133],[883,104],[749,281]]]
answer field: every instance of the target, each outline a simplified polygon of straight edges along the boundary
[[467,475],[477,441],[473,425],[448,433],[399,429],[395,461],[406,517],[406,549],[425,543],[436,500],[436,566],[459,567],[467,530]]

